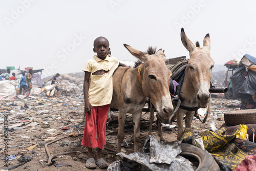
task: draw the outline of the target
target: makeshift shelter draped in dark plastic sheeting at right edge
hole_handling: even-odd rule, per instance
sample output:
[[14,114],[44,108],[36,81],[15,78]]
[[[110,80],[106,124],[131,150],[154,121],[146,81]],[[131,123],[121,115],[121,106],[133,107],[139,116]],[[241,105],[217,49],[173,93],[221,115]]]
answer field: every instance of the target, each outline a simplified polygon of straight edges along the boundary
[[256,58],[245,54],[240,61],[238,70],[230,79],[234,97],[241,98],[242,103],[243,99],[246,99],[244,102],[247,102],[247,104],[248,100],[253,101],[252,96],[256,93]]

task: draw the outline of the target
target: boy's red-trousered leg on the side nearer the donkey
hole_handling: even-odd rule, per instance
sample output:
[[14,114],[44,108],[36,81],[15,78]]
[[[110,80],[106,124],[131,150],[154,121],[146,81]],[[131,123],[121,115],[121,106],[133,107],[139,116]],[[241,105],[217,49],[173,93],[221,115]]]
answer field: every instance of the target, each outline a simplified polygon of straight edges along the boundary
[[98,151],[96,154],[96,160],[100,159],[101,149],[104,149],[106,144],[106,119],[108,118],[109,104],[98,106],[97,117],[97,135],[98,135]]

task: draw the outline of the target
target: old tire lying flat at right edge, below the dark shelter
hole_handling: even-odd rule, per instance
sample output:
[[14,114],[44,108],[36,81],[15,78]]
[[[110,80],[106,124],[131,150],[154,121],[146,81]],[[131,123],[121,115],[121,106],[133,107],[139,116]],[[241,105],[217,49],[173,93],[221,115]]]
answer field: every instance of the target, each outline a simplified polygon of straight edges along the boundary
[[224,120],[231,126],[256,123],[256,109],[225,112]]

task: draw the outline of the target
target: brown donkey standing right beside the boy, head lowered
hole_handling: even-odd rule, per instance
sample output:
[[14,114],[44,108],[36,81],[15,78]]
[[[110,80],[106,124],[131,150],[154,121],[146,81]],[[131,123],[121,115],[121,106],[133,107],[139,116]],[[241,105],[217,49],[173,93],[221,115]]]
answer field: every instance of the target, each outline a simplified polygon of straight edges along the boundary
[[159,49],[155,54],[147,54],[124,47],[143,63],[137,68],[118,67],[113,74],[113,98],[111,108],[118,109],[118,145],[121,151],[124,139],[124,120],[126,113],[133,114],[134,151],[139,151],[140,118],[142,109],[148,99],[156,106],[157,116],[168,122],[173,113],[173,104],[169,93],[169,78],[172,75],[165,65],[164,52]]

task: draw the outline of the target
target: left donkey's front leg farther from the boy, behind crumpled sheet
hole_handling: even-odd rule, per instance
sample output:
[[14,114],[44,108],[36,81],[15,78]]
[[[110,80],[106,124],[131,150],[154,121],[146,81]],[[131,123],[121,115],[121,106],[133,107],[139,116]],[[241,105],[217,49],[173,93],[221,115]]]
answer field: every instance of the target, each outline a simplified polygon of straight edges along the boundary
[[140,149],[140,117],[141,117],[141,113],[142,113],[142,111],[133,114],[134,152],[138,152]]

